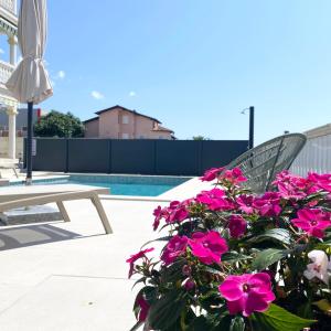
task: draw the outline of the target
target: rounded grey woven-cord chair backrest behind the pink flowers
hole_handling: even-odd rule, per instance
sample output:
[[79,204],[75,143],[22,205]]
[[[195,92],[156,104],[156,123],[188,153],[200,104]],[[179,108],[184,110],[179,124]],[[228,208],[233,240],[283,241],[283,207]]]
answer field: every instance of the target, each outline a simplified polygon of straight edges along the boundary
[[289,134],[266,141],[226,166],[239,168],[247,178],[245,185],[256,193],[269,190],[276,174],[290,168],[307,138],[302,134]]

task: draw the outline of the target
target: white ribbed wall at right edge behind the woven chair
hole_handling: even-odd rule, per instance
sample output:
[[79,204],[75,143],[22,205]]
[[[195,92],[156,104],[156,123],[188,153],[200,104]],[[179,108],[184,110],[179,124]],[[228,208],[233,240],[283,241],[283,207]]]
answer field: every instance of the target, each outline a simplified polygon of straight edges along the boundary
[[331,134],[307,139],[290,171],[306,177],[309,171],[331,173]]

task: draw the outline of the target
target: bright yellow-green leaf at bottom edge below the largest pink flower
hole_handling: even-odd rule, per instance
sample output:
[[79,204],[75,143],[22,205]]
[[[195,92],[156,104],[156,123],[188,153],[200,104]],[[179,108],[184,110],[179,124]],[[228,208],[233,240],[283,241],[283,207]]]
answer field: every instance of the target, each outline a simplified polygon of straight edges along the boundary
[[250,319],[255,325],[254,331],[300,331],[317,322],[302,319],[274,303],[265,312],[255,312]]

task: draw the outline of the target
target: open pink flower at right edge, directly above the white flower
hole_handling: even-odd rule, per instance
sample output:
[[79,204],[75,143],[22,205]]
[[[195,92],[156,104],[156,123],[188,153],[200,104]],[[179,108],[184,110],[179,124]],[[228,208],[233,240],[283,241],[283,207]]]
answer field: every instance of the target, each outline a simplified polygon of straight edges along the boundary
[[322,238],[324,229],[331,226],[331,213],[318,209],[303,209],[298,211],[297,216],[291,223],[317,238]]

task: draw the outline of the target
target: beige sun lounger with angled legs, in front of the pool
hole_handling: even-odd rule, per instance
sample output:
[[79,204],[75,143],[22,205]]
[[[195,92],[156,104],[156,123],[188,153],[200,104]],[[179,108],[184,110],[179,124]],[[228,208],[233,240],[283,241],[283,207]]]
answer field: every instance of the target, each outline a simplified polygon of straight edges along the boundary
[[67,214],[67,211],[65,210],[63,202],[71,200],[89,199],[98,212],[105,232],[107,234],[110,234],[113,233],[113,229],[98,194],[109,194],[109,190],[78,184],[1,188],[0,213],[18,207],[42,205],[54,202],[57,204],[63,220],[65,222],[70,222],[71,218]]

